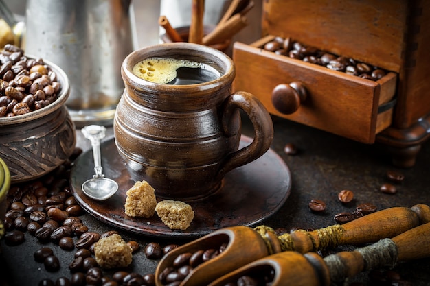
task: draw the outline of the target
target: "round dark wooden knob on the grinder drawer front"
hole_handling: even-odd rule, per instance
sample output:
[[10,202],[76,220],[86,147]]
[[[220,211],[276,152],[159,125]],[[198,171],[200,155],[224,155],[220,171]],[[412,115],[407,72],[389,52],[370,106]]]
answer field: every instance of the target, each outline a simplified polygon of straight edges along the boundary
[[308,92],[300,82],[291,84],[278,84],[272,91],[272,104],[279,112],[289,115],[299,109]]

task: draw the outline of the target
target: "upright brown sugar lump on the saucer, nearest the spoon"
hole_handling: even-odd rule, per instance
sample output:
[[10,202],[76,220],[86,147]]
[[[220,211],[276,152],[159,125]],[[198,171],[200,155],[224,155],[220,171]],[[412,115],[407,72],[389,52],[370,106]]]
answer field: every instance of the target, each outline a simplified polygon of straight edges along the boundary
[[129,217],[152,217],[157,206],[155,190],[146,181],[137,181],[127,191],[125,213]]

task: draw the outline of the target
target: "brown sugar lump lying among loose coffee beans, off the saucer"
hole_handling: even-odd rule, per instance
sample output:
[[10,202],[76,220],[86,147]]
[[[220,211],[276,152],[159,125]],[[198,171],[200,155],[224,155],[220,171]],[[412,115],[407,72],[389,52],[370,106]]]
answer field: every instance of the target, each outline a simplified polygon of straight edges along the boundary
[[127,267],[133,260],[132,248],[121,235],[104,237],[94,244],[95,261],[102,268]]

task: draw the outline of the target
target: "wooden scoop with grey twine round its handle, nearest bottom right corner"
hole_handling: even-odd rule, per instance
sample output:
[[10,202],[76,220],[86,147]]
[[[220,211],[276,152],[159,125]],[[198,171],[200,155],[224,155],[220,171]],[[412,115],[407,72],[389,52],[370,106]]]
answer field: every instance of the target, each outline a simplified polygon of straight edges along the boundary
[[240,267],[209,285],[223,286],[238,281],[240,277],[251,276],[268,277],[272,286],[328,286],[360,272],[384,267],[387,263],[394,266],[397,261],[430,257],[429,233],[430,223],[422,224],[392,239],[382,239],[365,248],[338,252],[324,259],[315,252],[273,254]]

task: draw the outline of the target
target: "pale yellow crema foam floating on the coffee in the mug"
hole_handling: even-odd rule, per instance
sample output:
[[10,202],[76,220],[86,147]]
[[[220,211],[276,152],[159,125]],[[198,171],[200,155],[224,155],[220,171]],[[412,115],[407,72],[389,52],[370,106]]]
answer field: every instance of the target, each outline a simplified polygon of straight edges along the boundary
[[178,60],[175,58],[147,58],[138,62],[133,67],[133,74],[149,82],[167,84],[177,77],[177,69],[180,67],[207,69],[208,66],[201,62],[191,60]]

